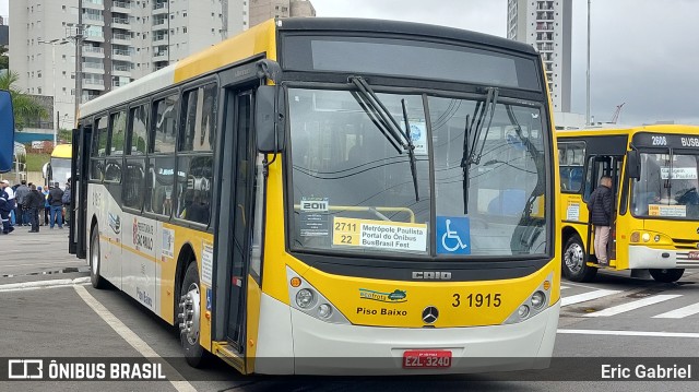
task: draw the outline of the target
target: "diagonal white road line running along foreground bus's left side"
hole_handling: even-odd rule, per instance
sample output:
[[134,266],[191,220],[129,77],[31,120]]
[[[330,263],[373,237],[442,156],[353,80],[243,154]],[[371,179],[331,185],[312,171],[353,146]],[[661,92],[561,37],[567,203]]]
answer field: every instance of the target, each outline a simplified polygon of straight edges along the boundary
[[[144,358],[153,361],[153,358],[161,358],[157,353],[151,348],[139,335],[137,335],[133,331],[131,331],[121,320],[119,320],[116,316],[114,316],[104,305],[102,305],[92,294],[87,293],[87,289],[83,286],[73,286],[78,295],[92,308],[92,310],[97,313],[104,320],[107,325],[111,326],[111,329],[121,336],[127,343],[131,345],[131,347],[135,348],[139,354],[141,354]],[[177,376],[177,378],[185,379],[182,375],[179,373],[175,368],[173,368],[167,361],[163,361],[163,369],[167,369]],[[194,387],[189,383],[189,381],[175,381],[168,380],[173,387],[179,392],[197,392]]]

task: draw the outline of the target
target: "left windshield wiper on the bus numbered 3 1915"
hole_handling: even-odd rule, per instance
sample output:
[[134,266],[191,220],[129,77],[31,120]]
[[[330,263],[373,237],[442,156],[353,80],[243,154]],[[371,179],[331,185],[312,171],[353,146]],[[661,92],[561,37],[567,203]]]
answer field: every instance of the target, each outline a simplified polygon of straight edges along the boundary
[[[417,167],[415,163],[415,145],[413,144],[413,139],[411,136],[411,129],[407,122],[407,110],[405,108],[405,99],[402,99],[403,105],[403,118],[405,121],[405,131],[401,129],[393,115],[386,108],[386,105],[379,99],[376,95],[371,86],[367,83],[367,81],[362,76],[350,76],[350,82],[352,82],[356,87],[359,94],[357,96],[362,99],[360,105],[363,109],[367,112],[370,112],[374,117],[369,116],[374,123],[379,128],[381,133],[386,136],[386,139],[395,147],[399,154],[403,154],[404,151],[407,151],[410,156],[411,164],[411,174],[413,176],[413,185],[415,187],[415,201],[419,201],[419,195],[417,193]],[[402,136],[402,138],[401,138]],[[403,142],[403,140],[405,142]],[[400,146],[403,147],[401,150]]]

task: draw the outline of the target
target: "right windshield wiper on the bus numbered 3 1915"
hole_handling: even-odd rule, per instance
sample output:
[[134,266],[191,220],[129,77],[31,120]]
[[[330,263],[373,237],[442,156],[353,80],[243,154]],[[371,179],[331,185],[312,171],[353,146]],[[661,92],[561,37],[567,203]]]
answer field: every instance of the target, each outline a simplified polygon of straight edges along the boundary
[[[461,155],[461,170],[463,171],[463,213],[464,215],[469,214],[469,168],[471,168],[472,164],[478,165],[481,163],[481,157],[483,156],[483,147],[485,147],[485,141],[488,140],[488,132],[490,131],[490,124],[493,123],[493,116],[495,115],[495,107],[498,103],[498,88],[497,87],[488,87],[488,95],[486,96],[485,103],[481,104],[478,100],[476,103],[476,107],[473,110],[473,118],[469,118],[466,116],[466,124],[463,130],[463,151]],[[490,110],[490,117],[488,118],[488,126],[486,127],[485,138],[483,139],[483,144],[481,144],[481,149],[478,149],[478,141],[481,140],[481,133],[483,131],[483,126],[485,123],[484,119],[486,114]],[[476,121],[477,118],[477,121]],[[475,130],[474,130],[475,122]],[[473,133],[473,135],[472,135]],[[478,150],[478,155],[476,156],[476,150]]]

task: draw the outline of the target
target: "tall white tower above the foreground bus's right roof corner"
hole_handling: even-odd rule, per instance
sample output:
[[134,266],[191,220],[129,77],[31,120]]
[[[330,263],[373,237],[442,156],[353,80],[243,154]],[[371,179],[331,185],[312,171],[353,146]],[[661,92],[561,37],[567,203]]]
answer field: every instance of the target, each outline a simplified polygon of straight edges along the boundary
[[507,37],[544,60],[554,111],[570,111],[572,0],[508,0]]

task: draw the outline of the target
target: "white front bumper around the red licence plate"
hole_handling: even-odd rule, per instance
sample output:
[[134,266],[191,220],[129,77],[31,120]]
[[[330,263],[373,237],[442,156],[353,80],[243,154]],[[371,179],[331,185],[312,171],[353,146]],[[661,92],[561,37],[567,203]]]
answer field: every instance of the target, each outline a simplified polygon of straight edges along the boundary
[[[467,373],[548,367],[560,301],[516,323],[473,328],[399,329],[332,324],[291,309],[296,375]],[[448,351],[448,368],[405,369],[406,351]],[[275,372],[258,357],[256,372]],[[272,370],[272,371],[270,371]],[[291,370],[291,369],[289,369]]]

